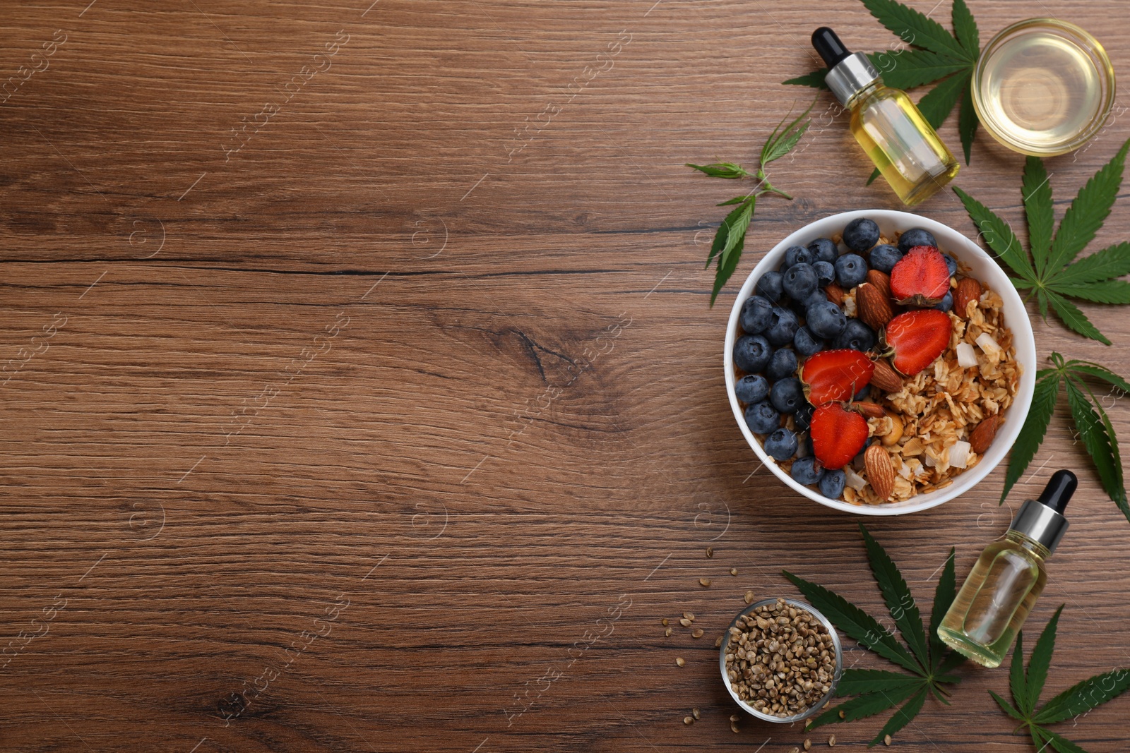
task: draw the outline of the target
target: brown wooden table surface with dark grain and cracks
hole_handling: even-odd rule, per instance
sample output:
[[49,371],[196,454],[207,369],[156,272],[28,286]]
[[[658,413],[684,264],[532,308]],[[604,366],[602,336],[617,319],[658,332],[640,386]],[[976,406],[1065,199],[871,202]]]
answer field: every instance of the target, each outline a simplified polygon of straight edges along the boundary
[[[0,80],[25,68],[0,107],[0,614],[18,647],[0,748],[799,745],[799,725],[731,733],[714,636],[747,589],[797,595],[782,568],[881,601],[860,518],[746,446],[721,342],[764,249],[898,204],[863,187],[843,116],[814,126],[775,166],[798,199],[763,202],[711,309],[732,186],[684,163],[756,159],[807,104],[779,81],[812,67],[817,24],[859,49],[893,37],[847,0],[370,3],[5,6]],[[1062,16],[1130,71],[1115,0],[970,6],[982,40]],[[1128,134],[1115,119],[1049,160],[1060,212]],[[942,135],[957,145],[954,120]],[[1022,164],[982,133],[958,182],[1023,226]],[[1128,207],[1094,248],[1130,236]],[[973,234],[949,193],[921,212]],[[1035,319],[1041,354],[1130,373],[1130,319],[1087,310],[1114,347]],[[1125,440],[1124,402],[1111,415]],[[1029,627],[1067,604],[1050,691],[1130,665],[1130,524],[1066,419],[1014,502],[1057,467],[1081,485]],[[964,577],[1003,531],[1002,474],[868,520],[923,604],[951,545]],[[684,611],[705,638],[663,637]],[[955,706],[928,702],[895,744],[1029,751],[985,692],[1006,672],[962,672]],[[1069,736],[1128,750],[1128,704]],[[881,723],[812,742],[862,750]]]

